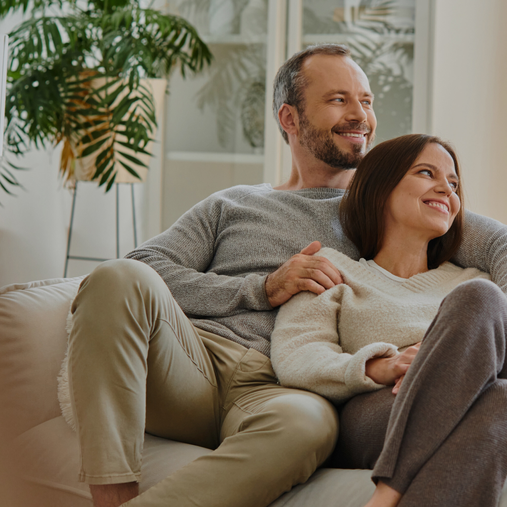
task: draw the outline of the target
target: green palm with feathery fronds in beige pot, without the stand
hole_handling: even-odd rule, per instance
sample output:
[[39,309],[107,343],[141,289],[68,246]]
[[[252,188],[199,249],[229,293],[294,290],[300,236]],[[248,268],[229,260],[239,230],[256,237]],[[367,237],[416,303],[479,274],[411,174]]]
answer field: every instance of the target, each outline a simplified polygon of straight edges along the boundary
[[[118,171],[140,179],[157,127],[148,78],[185,76],[210,63],[195,28],[138,0],[3,0],[0,18],[29,17],[9,34],[6,151],[63,143],[60,171],[110,190]],[[143,161],[144,160],[144,161]],[[4,157],[0,186],[19,185]],[[91,171],[90,171],[91,168]]]

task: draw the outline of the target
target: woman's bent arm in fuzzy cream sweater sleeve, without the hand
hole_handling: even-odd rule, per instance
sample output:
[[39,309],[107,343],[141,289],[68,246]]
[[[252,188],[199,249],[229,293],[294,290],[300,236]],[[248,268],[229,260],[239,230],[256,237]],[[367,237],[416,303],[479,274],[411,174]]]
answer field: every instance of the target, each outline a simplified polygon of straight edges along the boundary
[[271,335],[271,362],[282,385],[307,389],[334,402],[384,387],[366,375],[366,362],[390,357],[397,348],[372,343],[355,354],[339,345],[337,318],[344,286],[317,296],[302,292],[285,303]]

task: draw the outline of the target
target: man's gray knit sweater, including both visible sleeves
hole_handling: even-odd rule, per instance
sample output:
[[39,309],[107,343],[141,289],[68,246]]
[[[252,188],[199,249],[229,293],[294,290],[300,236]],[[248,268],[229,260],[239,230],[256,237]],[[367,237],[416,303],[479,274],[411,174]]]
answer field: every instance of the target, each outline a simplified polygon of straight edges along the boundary
[[[268,184],[216,192],[126,258],[157,271],[197,328],[269,356],[277,309],[266,297],[267,275],[315,240],[359,260],[338,220],[343,194]],[[467,211],[452,261],[491,273],[507,293],[507,227]]]

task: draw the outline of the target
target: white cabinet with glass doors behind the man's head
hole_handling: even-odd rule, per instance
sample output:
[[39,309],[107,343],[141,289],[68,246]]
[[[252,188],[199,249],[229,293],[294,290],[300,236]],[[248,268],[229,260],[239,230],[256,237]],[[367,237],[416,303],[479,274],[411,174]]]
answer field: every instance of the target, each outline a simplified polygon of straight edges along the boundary
[[428,131],[431,2],[181,0],[173,5],[172,12],[197,27],[214,61],[196,77],[184,80],[175,71],[170,80],[163,228],[212,192],[263,181],[274,185],[288,176],[290,152],[271,113],[272,83],[280,64],[310,44],[351,48],[376,95],[378,140],[413,128]]

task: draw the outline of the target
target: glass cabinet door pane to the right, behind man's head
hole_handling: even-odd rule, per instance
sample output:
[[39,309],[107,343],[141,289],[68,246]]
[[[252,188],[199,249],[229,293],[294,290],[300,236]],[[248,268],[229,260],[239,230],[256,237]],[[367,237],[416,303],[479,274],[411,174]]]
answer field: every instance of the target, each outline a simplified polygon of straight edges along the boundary
[[376,142],[412,131],[415,0],[303,0],[302,45],[346,44],[375,95]]

